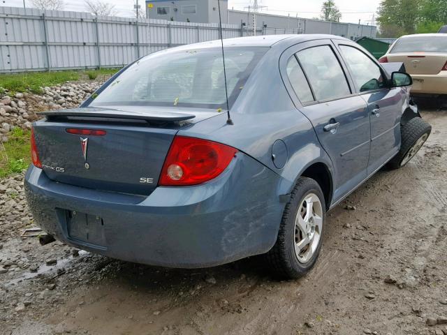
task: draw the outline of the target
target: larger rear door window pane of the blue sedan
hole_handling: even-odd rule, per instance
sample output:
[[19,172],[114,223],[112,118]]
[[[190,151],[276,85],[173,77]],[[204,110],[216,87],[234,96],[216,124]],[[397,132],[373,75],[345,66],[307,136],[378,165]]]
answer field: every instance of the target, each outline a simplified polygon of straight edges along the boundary
[[329,45],[309,47],[296,55],[309,79],[316,100],[351,94],[342,66]]

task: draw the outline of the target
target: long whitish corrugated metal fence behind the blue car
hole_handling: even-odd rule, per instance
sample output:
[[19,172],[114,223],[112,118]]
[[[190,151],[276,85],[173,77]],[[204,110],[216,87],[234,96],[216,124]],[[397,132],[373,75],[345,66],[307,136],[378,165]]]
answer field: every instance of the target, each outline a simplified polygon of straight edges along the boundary
[[[223,38],[254,34],[243,24],[222,27]],[[311,30],[305,32],[321,32]],[[259,27],[257,34],[302,32]],[[219,37],[219,24],[0,6],[0,73],[122,67],[151,52]]]

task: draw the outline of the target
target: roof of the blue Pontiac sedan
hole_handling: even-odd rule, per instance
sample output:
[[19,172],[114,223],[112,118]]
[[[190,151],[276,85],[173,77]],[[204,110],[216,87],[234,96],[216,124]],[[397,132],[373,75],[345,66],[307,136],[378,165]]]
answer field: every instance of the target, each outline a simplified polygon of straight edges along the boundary
[[[335,35],[325,35],[325,34],[295,34],[295,35],[265,35],[265,36],[248,36],[248,37],[237,37],[237,38],[225,38],[223,40],[224,47],[272,47],[274,44],[279,42],[294,45],[296,43],[307,42],[308,40],[321,40],[321,39],[344,39],[340,36]],[[281,43],[281,44],[282,44]],[[205,47],[219,47],[221,46],[221,40],[210,40],[202,43],[195,43],[189,45],[182,45],[181,47],[176,47],[177,50],[191,49],[193,48],[205,48]]]

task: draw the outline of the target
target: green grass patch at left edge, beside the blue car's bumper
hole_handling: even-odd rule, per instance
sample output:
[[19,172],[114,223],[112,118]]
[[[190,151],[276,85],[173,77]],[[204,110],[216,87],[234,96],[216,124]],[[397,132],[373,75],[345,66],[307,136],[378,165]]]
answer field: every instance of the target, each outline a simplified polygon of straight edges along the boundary
[[30,131],[14,128],[8,134],[9,140],[0,144],[0,178],[19,173],[31,162]]

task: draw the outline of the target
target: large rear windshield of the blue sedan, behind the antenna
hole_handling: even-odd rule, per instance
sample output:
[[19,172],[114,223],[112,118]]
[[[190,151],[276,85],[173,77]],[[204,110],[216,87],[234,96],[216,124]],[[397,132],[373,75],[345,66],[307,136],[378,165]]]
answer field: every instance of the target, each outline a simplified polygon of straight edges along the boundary
[[[266,47],[226,47],[228,101],[234,103]],[[165,50],[140,59],[90,104],[162,105],[226,109],[222,50],[219,47]]]

